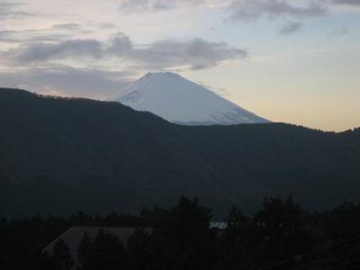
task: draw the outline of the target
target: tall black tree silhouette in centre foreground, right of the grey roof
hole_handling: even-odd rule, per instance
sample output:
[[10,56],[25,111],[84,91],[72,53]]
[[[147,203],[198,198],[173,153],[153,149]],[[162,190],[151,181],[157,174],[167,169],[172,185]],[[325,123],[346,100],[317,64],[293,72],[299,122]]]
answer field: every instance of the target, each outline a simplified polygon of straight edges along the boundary
[[184,196],[154,234],[161,251],[159,269],[206,269],[216,258],[216,235],[209,229],[210,209]]

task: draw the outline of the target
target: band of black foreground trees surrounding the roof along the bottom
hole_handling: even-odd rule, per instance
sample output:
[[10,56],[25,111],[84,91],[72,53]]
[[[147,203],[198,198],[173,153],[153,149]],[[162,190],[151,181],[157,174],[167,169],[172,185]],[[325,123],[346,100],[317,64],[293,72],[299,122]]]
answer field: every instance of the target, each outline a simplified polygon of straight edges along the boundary
[[[168,211],[146,210],[140,217],[79,213],[67,219],[1,220],[0,268],[360,269],[359,204],[308,213],[292,197],[266,198],[252,217],[239,208],[229,211],[227,229],[211,229],[210,221],[210,209],[185,197]],[[74,225],[137,229],[128,239],[103,229],[93,238],[85,234],[78,266],[61,240],[51,254],[40,252]]]

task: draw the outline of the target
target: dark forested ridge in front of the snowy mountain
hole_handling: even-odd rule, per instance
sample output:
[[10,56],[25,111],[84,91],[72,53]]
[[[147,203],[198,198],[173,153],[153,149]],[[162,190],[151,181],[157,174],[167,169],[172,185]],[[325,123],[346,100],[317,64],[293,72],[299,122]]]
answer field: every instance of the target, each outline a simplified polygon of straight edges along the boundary
[[307,209],[358,201],[360,130],[284,123],[185,127],[120,103],[0,89],[0,213],[136,211],[200,196],[223,215],[293,193]]

